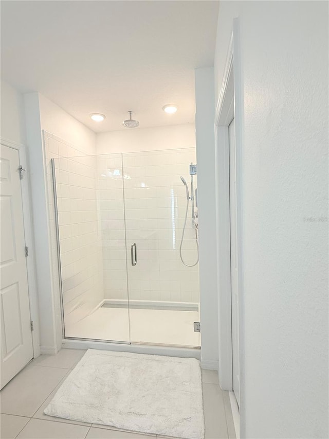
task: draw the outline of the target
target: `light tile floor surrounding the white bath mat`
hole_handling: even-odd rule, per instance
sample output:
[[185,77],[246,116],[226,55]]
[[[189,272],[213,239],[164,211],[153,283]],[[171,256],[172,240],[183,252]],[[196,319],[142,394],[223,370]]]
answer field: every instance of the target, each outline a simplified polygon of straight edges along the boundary
[[[1,391],[1,439],[151,439],[166,436],[123,431],[115,427],[54,418],[44,408],[62,381],[84,355],[62,349],[57,355],[33,360]],[[228,392],[218,385],[217,373],[202,371],[205,439],[235,439]],[[173,438],[171,438],[173,439]]]

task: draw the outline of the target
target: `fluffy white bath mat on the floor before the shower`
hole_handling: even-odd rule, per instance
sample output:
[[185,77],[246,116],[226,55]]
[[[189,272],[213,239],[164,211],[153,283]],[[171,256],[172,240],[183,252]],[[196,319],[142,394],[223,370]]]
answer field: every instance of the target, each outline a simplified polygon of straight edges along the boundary
[[124,430],[202,439],[199,361],[88,349],[44,412]]

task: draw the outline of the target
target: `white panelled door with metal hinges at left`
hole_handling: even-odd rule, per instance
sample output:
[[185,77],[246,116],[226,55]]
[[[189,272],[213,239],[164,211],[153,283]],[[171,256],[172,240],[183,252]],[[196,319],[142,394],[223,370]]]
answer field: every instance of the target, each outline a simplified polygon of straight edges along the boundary
[[19,153],[0,148],[1,388],[32,358]]

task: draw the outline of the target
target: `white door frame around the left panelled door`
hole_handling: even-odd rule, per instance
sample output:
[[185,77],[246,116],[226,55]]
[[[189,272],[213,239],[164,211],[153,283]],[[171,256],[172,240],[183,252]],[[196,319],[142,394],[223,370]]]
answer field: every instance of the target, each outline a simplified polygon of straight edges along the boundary
[[27,154],[25,145],[13,142],[4,137],[0,137],[0,143],[8,148],[15,149],[19,152],[19,161],[23,169],[25,169],[24,177],[21,180],[22,190],[22,207],[23,207],[23,222],[24,222],[24,236],[25,245],[28,247],[28,256],[26,257],[27,268],[27,284],[30,304],[30,319],[33,322],[32,345],[33,358],[40,355],[40,333],[39,333],[39,306],[38,306],[38,291],[36,290],[36,274],[35,274],[35,256],[34,256],[34,242],[32,232],[32,209],[31,209],[31,192],[29,184],[29,166],[27,162]]

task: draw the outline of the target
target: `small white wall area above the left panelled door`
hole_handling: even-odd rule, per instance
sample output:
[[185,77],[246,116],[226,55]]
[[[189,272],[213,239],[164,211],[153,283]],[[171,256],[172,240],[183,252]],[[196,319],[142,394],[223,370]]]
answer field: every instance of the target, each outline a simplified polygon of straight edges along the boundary
[[24,99],[22,93],[1,81],[1,137],[26,144]]

